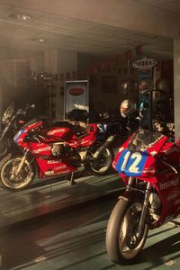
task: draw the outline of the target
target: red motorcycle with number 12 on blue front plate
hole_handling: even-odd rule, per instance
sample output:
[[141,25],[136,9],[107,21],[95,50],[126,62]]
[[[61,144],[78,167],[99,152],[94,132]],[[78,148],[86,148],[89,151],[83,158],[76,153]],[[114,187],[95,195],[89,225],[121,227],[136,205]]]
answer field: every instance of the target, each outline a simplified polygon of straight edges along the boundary
[[126,189],[108,221],[106,248],[112,261],[124,263],[139,255],[148,229],[180,214],[180,139],[138,130],[121,146],[113,167]]

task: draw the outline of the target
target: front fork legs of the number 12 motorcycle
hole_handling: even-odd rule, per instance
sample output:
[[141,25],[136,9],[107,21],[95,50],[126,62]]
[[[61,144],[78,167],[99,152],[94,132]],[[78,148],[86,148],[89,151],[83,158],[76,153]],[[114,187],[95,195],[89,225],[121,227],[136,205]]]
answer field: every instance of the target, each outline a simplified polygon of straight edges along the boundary
[[[130,186],[132,186],[132,183],[133,183],[133,177],[130,176],[128,185],[127,185],[127,190],[130,190]],[[139,234],[144,230],[144,225],[145,225],[145,221],[146,221],[147,213],[148,213],[148,203],[149,203],[149,196],[151,193],[151,187],[152,187],[152,184],[147,182],[144,202],[143,202],[142,211],[141,211],[140,220],[139,220],[139,229],[138,229]]]

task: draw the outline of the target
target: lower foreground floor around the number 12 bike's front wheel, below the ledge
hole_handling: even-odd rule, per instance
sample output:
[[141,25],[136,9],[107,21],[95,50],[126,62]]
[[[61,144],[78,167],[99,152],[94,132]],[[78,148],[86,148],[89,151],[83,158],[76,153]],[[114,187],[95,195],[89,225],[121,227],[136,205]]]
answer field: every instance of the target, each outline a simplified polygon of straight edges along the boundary
[[119,266],[110,261],[104,239],[116,201],[117,197],[106,197],[74,211],[1,229],[0,269],[180,269],[180,228],[169,223],[149,232],[136,265]]

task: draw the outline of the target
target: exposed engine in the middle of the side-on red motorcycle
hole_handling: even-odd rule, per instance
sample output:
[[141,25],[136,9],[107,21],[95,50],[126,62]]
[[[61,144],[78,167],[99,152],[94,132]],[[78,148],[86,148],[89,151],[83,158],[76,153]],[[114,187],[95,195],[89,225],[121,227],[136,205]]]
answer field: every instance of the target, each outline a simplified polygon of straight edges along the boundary
[[72,166],[79,166],[81,162],[78,152],[66,145],[64,141],[53,143],[51,155],[57,159],[62,158],[67,164]]

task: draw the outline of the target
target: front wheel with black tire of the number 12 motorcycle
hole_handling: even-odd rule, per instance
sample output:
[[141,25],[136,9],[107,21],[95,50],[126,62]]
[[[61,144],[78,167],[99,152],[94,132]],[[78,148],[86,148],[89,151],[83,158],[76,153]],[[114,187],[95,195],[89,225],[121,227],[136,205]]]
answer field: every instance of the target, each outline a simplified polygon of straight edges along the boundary
[[[148,224],[138,236],[142,203],[121,198],[115,205],[106,230],[108,257],[115,263],[133,262],[144,247],[148,236]],[[132,214],[133,213],[133,214]],[[122,231],[123,229],[123,231]]]

